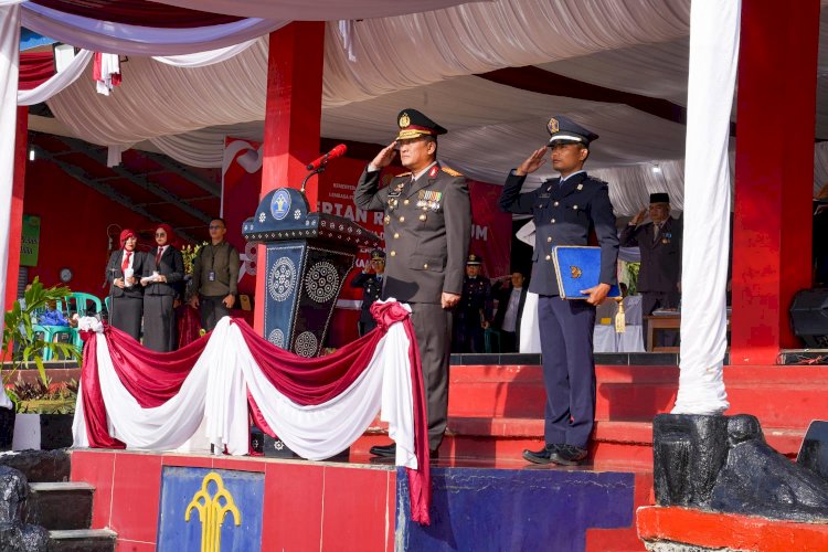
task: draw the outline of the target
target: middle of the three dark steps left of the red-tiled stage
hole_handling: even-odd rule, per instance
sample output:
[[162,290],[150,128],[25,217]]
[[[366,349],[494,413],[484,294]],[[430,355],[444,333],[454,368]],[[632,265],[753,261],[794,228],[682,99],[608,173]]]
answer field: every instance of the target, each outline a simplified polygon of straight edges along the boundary
[[49,530],[88,529],[94,492],[85,482],[29,484],[26,523]]

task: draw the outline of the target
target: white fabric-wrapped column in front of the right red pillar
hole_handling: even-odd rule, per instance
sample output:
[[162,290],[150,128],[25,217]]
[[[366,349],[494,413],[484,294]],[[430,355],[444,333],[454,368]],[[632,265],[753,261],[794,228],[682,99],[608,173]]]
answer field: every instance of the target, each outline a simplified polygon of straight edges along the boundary
[[673,414],[721,414],[730,407],[722,378],[730,253],[728,142],[740,15],[740,0],[692,3],[680,376]]

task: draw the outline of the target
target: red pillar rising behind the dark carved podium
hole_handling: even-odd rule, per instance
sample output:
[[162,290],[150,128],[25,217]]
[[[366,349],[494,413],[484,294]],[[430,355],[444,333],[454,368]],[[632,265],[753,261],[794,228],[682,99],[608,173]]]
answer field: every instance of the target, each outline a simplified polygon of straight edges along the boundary
[[[308,173],[305,166],[319,157],[323,61],[323,22],[294,22],[270,33],[259,200],[276,188],[299,189]],[[317,204],[316,181],[314,178],[306,190],[311,211]],[[258,258],[265,258],[263,246]],[[265,270],[258,270],[254,327],[259,332],[266,280]]]

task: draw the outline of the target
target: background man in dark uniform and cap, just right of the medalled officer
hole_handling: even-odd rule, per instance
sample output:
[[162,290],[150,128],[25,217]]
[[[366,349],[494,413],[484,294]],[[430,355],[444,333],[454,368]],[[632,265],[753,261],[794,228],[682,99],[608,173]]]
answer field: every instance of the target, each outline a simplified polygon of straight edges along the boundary
[[454,332],[455,352],[486,352],[484,331],[491,322],[491,282],[480,276],[482,257],[474,253],[466,262],[466,276],[463,278],[463,294],[457,307],[457,327]]

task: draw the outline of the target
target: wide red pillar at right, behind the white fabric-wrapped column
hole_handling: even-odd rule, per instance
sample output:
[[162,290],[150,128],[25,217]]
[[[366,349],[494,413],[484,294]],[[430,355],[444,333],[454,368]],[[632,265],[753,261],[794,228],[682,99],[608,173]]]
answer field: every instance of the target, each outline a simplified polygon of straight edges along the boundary
[[743,0],[731,363],[774,364],[800,347],[794,294],[811,286],[819,0]]

